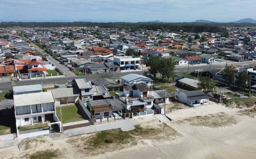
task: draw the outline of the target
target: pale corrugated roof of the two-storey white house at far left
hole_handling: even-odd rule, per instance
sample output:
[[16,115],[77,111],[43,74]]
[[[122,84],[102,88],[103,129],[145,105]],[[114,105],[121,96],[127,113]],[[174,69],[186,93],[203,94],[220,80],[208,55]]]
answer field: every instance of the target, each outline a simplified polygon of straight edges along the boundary
[[14,106],[26,106],[55,102],[52,91],[13,95]]

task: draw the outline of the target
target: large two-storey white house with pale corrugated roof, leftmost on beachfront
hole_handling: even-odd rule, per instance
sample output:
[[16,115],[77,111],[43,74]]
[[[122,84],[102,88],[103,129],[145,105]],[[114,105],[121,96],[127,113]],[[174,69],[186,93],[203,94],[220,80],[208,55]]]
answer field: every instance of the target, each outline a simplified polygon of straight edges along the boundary
[[18,137],[18,127],[56,122],[60,128],[61,123],[56,116],[55,99],[51,91],[13,95],[13,101]]

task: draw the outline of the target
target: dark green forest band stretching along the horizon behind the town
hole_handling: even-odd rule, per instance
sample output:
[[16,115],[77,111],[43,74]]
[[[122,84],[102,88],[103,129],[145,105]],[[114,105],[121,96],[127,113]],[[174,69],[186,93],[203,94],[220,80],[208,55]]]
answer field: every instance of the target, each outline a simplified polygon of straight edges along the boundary
[[102,28],[117,28],[117,29],[131,29],[137,31],[138,29],[146,30],[170,30],[170,31],[186,31],[186,32],[224,32],[225,28],[221,26],[256,26],[256,24],[234,24],[234,23],[92,23],[92,22],[1,22],[0,27],[93,27],[99,26]]

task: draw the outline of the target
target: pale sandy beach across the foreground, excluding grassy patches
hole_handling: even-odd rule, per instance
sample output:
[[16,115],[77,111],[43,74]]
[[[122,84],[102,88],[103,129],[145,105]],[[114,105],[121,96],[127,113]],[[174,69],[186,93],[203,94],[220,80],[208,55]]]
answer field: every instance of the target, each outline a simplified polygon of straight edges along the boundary
[[[25,149],[24,145],[20,149],[9,147],[0,149],[1,158],[26,158],[31,151],[57,148],[61,154],[57,158],[89,158],[89,159],[251,159],[256,158],[256,119],[242,116],[238,113],[241,109],[226,108],[223,105],[212,104],[199,108],[181,109],[167,114],[173,119],[166,124],[177,131],[180,135],[174,139],[156,141],[151,140],[152,136],[146,137],[137,145],[125,146],[122,150],[105,152],[96,156],[86,154],[79,145],[86,134],[80,135],[76,139],[77,145],[70,143],[72,138],[50,139],[43,138],[44,141],[33,142],[31,147]],[[231,126],[211,128],[205,126],[191,125],[185,121],[177,121],[195,117],[205,116],[223,112],[234,118],[237,123]],[[158,127],[159,121],[153,116],[135,119],[140,126]],[[160,123],[161,124],[161,123]],[[35,146],[37,145],[37,146]],[[51,146],[49,146],[51,145]],[[36,147],[36,148],[34,148]],[[18,151],[18,152],[17,152]]]

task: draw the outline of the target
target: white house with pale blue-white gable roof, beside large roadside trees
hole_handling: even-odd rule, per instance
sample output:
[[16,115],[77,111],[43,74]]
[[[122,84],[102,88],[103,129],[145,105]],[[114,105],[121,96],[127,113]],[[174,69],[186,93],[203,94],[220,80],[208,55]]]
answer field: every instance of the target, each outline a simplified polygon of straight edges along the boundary
[[153,80],[137,74],[128,74],[125,76],[120,77],[122,84],[135,84],[135,83],[145,83],[146,85],[150,86],[152,85]]

